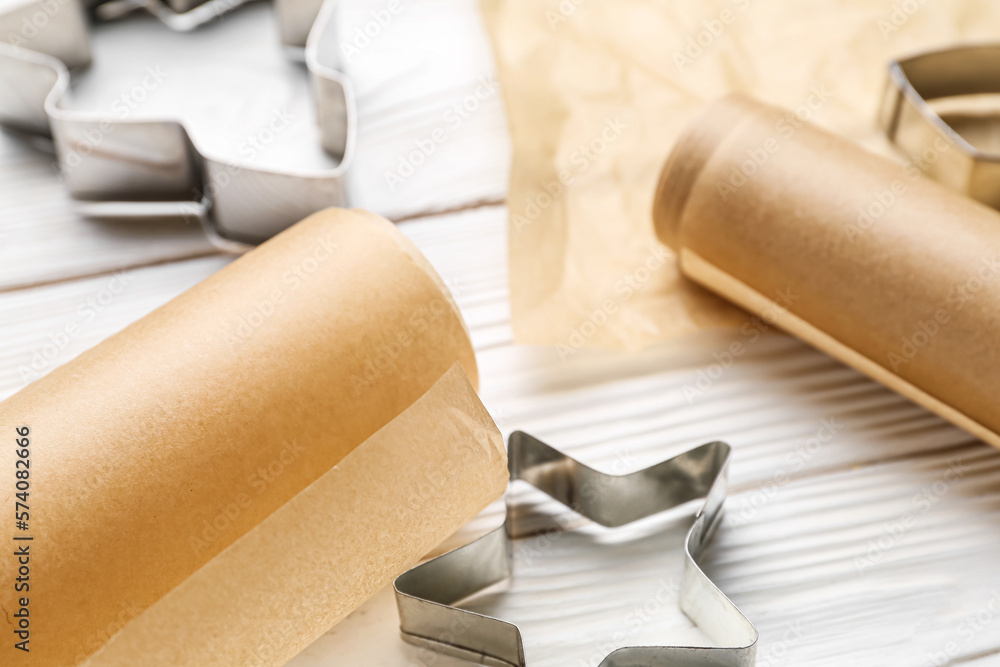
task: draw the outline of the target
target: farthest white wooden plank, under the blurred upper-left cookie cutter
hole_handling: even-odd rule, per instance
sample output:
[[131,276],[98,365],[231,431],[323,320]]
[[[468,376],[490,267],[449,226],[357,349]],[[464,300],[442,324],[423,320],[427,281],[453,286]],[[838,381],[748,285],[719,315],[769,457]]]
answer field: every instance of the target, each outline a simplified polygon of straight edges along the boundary
[[[409,218],[502,200],[509,139],[476,1],[402,3],[366,42],[357,31],[372,30],[384,3],[337,11],[358,97],[352,205]],[[0,132],[0,290],[215,252],[195,222],[81,216],[51,146]]]

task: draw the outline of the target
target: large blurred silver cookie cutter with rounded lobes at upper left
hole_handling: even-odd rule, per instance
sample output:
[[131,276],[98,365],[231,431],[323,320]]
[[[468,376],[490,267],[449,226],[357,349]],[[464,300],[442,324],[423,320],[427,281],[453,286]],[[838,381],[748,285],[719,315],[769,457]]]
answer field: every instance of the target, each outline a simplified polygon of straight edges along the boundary
[[[188,10],[178,16],[202,12],[199,21],[216,18],[242,2],[170,1],[171,6]],[[120,0],[118,5],[151,11],[167,7],[160,0]],[[107,112],[72,108],[64,99],[70,71],[84,71],[92,60],[90,21],[81,0],[12,0],[0,9],[0,124],[29,135],[51,136],[60,164],[65,165],[65,156],[73,157],[74,166],[62,169],[63,178],[83,214],[194,216],[220,247],[246,249],[319,209],[347,203],[345,176],[354,151],[356,111],[350,82],[337,70],[335,5],[336,0],[322,5],[316,0],[279,0],[274,12],[281,48],[303,59],[308,69],[303,75],[309,77],[311,94],[303,81],[295,99],[304,100],[305,108],[315,108],[318,138],[307,142],[309,155],[315,156],[313,166],[287,159],[287,168],[258,165],[235,150],[206,150],[179,118],[122,117],[114,107]],[[253,22],[227,18],[213,23],[208,32],[190,34],[184,38],[190,46],[182,49],[168,39],[191,25],[157,14],[169,29],[154,31],[140,25],[145,29],[142,36],[119,40],[131,50],[118,49],[110,62],[140,58],[158,37],[158,48],[198,65],[214,59],[213,43],[205,40],[220,31],[228,31],[228,42],[220,49],[229,48],[234,39],[252,44],[256,27],[251,37],[231,33],[235,26],[257,26],[262,8],[243,10],[250,12]],[[252,72],[243,76],[254,85]],[[211,86],[203,90],[212,92]],[[246,90],[246,97],[251,93]],[[219,183],[225,186],[217,187]]]

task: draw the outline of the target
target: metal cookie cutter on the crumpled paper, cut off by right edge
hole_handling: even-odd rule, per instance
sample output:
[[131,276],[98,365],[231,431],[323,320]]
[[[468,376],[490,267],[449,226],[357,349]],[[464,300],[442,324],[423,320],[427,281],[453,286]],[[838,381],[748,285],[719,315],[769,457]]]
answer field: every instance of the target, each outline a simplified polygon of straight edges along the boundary
[[1000,153],[970,144],[928,104],[983,93],[1000,93],[1000,45],[962,46],[897,60],[889,64],[879,125],[932,178],[1000,208]]

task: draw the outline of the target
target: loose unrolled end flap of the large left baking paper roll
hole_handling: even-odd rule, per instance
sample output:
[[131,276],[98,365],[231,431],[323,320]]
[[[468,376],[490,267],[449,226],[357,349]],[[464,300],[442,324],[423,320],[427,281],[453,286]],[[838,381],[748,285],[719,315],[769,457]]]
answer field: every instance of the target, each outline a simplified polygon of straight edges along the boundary
[[147,609],[85,665],[281,665],[503,493],[461,368]]

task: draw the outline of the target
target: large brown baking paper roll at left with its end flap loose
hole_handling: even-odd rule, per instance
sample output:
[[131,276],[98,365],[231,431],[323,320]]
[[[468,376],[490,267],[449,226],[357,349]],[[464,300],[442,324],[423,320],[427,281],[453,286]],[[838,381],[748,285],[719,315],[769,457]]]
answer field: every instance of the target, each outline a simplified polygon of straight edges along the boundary
[[0,664],[284,664],[503,492],[466,374],[426,260],[331,209],[29,385]]

